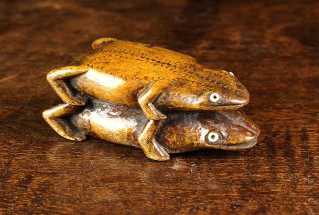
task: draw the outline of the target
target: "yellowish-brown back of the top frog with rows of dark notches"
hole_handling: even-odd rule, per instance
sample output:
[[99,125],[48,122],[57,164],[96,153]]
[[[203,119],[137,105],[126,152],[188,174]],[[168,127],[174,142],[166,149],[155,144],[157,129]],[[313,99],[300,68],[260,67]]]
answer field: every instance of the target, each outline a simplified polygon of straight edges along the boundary
[[200,66],[186,54],[148,44],[115,40],[101,48],[77,57],[72,65],[81,65],[96,71],[129,80],[178,79],[189,65]]

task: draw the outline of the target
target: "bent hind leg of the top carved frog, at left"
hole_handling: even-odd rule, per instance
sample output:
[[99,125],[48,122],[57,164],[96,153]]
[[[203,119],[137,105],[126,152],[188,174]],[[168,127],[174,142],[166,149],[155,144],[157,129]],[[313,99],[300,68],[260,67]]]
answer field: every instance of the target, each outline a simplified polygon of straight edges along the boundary
[[72,87],[65,81],[66,78],[87,72],[89,69],[80,66],[61,67],[48,73],[47,80],[60,98],[68,104],[84,105],[86,99],[75,94]]

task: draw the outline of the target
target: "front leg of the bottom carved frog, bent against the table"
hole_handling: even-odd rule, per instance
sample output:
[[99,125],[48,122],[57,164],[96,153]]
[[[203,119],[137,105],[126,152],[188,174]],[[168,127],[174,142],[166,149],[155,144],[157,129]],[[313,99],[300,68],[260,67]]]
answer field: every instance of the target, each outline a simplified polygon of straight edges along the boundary
[[137,142],[148,158],[157,161],[167,161],[169,160],[169,154],[155,139],[155,134],[159,127],[159,120],[149,119],[138,135]]

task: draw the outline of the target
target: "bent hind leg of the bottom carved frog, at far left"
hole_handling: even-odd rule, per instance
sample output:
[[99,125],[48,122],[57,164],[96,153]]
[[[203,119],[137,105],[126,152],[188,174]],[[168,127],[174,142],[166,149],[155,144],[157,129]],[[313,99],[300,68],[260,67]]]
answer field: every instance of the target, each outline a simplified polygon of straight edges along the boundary
[[42,117],[60,136],[73,141],[83,141],[85,133],[78,130],[69,120],[63,119],[63,117],[79,112],[82,108],[71,104],[59,104],[45,110]]

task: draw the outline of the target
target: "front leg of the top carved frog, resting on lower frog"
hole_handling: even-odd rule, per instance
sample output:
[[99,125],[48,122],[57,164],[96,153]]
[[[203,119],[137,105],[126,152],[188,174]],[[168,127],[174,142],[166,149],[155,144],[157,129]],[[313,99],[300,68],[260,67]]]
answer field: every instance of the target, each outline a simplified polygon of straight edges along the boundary
[[159,81],[153,81],[149,86],[138,96],[138,104],[141,107],[145,117],[148,119],[160,120],[166,119],[152,103],[163,91],[163,84]]

